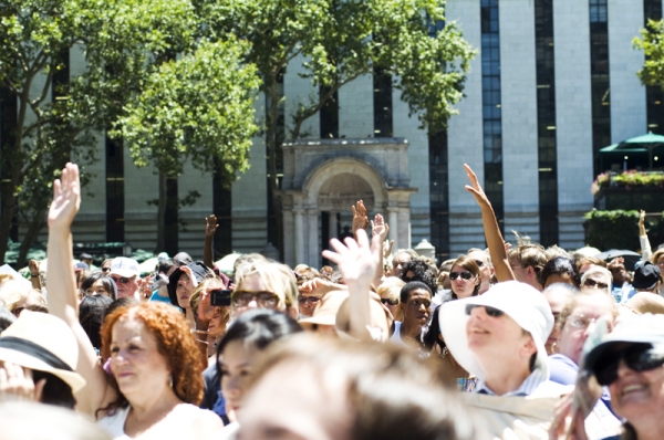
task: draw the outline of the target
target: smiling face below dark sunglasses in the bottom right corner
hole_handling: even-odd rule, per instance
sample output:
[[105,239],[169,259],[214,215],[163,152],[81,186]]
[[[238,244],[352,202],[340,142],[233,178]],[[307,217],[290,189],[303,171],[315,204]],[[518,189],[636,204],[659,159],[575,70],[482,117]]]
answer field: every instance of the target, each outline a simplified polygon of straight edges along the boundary
[[664,415],[664,367],[649,371],[634,371],[624,360],[618,367],[618,379],[609,385],[611,406],[615,412],[634,426],[652,423]]

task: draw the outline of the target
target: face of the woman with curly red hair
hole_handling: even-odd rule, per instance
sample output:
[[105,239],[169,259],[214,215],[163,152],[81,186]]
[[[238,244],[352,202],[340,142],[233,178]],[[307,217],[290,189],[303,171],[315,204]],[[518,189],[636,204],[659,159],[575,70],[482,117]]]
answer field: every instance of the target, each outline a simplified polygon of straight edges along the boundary
[[132,396],[158,392],[169,386],[168,363],[142,321],[133,317],[117,321],[111,337],[111,370],[129,402]]

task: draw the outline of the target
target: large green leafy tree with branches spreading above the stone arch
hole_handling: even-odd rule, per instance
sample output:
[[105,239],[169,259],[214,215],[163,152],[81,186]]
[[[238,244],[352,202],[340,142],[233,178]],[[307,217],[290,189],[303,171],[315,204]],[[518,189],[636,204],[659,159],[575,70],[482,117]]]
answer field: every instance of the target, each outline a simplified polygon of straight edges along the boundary
[[[453,22],[444,20],[439,0],[193,0],[205,18],[201,33],[222,39],[234,33],[251,43],[247,60],[257,65],[267,96],[266,144],[272,193],[277,177],[279,80],[289,62],[302,55],[304,77],[322,94],[298,104],[292,139],[343,85],[372,73],[393,75],[412,114],[430,133],[445,127],[463,97],[463,83],[475,51]],[[286,99],[291,99],[286,96]],[[280,206],[273,199],[280,222]],[[279,228],[281,230],[281,228]]]

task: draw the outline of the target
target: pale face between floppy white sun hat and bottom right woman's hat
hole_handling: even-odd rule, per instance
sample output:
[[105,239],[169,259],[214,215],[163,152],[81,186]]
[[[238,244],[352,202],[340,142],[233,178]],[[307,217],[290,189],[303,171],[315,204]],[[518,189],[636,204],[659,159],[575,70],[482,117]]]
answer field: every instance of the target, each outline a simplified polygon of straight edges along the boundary
[[606,301],[598,301],[598,296],[592,295],[578,300],[577,307],[567,317],[558,338],[558,353],[569,357],[577,365],[581,359],[583,344],[590,334],[590,323],[604,317],[609,323],[609,329],[613,328],[614,319],[611,308]]

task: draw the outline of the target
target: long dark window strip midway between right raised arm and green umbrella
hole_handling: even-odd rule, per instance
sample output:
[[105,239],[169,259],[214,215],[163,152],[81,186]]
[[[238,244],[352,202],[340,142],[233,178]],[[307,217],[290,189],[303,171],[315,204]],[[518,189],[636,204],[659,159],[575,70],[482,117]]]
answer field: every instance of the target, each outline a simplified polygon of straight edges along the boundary
[[535,2],[540,242],[558,243],[553,0]]

